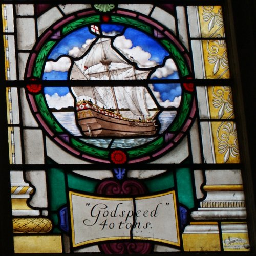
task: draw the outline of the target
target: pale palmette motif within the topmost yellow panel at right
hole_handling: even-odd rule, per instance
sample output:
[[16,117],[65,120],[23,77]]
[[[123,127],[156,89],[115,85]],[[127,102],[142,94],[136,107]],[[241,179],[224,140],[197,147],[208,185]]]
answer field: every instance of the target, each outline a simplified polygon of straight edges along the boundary
[[214,6],[203,6],[203,19],[205,22],[209,22],[209,31],[214,28],[215,25],[223,26],[222,9],[218,9],[218,12],[214,12]]

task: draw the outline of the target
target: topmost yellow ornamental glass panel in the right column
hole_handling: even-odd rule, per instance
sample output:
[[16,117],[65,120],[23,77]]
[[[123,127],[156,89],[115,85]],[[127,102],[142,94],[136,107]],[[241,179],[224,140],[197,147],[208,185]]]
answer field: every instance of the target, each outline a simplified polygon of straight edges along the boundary
[[221,6],[199,6],[202,37],[225,37]]

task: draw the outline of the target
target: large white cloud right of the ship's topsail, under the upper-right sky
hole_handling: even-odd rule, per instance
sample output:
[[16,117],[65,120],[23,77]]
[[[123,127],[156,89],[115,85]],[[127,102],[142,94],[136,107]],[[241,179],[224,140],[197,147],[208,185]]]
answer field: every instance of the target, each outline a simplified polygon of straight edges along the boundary
[[140,68],[155,67],[156,61],[149,60],[151,54],[145,52],[140,46],[132,47],[132,41],[126,39],[124,35],[118,36],[114,40],[114,46],[118,48],[127,58],[136,62]]

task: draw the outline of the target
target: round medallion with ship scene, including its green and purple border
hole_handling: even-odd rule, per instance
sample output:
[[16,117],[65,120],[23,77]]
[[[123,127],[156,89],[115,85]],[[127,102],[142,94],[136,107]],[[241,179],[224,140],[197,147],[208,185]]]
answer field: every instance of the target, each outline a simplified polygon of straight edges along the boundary
[[29,57],[26,93],[36,119],[84,160],[130,164],[162,156],[195,115],[186,50],[142,15],[90,10],[77,17],[48,29]]

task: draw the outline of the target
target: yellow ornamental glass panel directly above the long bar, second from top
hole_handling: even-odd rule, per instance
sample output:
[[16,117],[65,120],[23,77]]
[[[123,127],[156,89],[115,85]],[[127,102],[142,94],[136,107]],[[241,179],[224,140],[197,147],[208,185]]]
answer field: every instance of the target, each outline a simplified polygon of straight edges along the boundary
[[202,44],[206,78],[229,78],[226,41],[203,40]]

